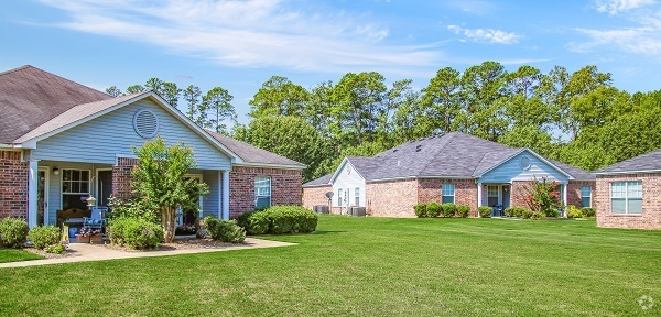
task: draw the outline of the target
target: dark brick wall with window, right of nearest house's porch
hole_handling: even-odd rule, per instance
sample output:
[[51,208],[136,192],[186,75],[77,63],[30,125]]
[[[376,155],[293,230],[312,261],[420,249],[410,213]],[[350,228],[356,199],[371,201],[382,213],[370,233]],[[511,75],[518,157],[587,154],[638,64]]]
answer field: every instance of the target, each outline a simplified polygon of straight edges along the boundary
[[229,217],[254,209],[254,177],[271,177],[271,205],[301,205],[301,170],[234,166],[229,173]]

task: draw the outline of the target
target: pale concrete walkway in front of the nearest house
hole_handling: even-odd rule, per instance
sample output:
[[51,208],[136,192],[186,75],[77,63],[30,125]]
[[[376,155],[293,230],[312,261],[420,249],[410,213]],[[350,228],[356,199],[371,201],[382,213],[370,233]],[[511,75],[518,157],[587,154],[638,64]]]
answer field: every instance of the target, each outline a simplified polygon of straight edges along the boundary
[[243,243],[231,244],[231,245],[227,245],[227,247],[203,247],[203,248],[196,248],[196,249],[161,250],[161,251],[120,251],[120,250],[113,250],[110,248],[105,248],[104,245],[95,245],[95,244],[88,244],[88,243],[72,243],[72,244],[69,244],[68,252],[74,252],[75,255],[73,255],[73,256],[0,263],[0,269],[24,267],[24,266],[47,265],[47,264],[62,264],[62,263],[74,263],[74,262],[104,261],[104,260],[116,260],[116,259],[151,258],[151,256],[166,256],[166,255],[178,255],[178,254],[208,253],[208,252],[219,252],[219,251],[288,247],[288,245],[295,245],[295,243],[260,240],[260,239],[254,239],[254,238],[246,238],[246,241],[243,241]]

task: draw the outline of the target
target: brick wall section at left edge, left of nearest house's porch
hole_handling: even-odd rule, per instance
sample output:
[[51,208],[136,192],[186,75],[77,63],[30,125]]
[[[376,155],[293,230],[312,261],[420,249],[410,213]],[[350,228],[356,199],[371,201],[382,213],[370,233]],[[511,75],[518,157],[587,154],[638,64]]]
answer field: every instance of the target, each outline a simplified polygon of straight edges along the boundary
[[0,219],[28,219],[28,162],[21,152],[0,151]]

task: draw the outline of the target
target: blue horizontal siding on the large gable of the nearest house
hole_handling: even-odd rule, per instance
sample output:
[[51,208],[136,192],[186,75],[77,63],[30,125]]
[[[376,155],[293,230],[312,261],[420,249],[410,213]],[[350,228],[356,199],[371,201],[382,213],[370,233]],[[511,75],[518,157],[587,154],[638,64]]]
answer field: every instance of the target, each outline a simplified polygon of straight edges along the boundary
[[183,141],[193,147],[201,170],[230,170],[230,158],[208,143],[177,118],[151,100],[133,105],[85,122],[37,142],[32,151],[39,160],[115,164],[117,155],[132,155],[131,146],[145,141],[133,130],[133,116],[139,109],[150,109],[159,118],[159,135],[167,144]]

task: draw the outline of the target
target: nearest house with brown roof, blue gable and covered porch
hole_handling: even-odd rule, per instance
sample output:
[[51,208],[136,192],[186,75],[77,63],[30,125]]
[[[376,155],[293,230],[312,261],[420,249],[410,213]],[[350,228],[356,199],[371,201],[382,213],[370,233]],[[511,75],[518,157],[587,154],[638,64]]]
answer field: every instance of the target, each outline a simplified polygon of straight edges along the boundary
[[129,197],[132,146],[156,135],[192,147],[187,177],[209,186],[193,218],[302,201],[305,165],[204,130],[151,91],[115,98],[23,66],[0,73],[0,218],[30,227],[56,223],[58,210],[86,208],[89,196],[99,206]]

